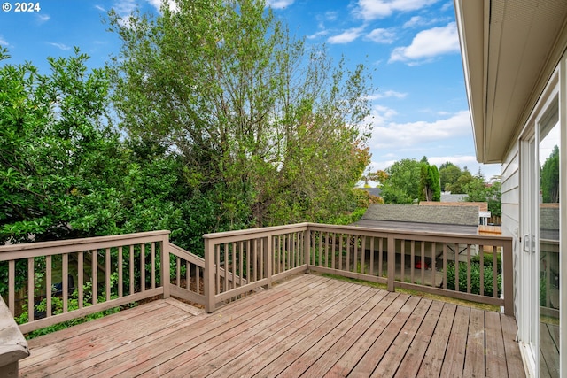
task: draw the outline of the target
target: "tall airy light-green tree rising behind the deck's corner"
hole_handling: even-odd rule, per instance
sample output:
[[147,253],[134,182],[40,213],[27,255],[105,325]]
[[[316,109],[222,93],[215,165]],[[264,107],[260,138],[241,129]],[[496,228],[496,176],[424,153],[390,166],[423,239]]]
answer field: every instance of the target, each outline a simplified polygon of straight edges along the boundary
[[110,13],[122,40],[114,103],[130,135],[179,152],[186,186],[217,219],[206,231],[346,210],[369,163],[366,68],[292,40],[260,0],[161,12]]

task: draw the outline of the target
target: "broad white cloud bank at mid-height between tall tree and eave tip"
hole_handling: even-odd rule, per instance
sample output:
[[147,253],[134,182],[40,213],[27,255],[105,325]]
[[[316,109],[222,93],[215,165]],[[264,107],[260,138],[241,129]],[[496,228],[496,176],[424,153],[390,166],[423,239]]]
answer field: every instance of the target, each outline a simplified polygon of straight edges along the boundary
[[373,110],[374,128],[370,140],[372,148],[403,149],[470,135],[468,111],[457,112],[447,119],[433,122],[387,123],[392,114],[395,112],[383,107],[377,106]]

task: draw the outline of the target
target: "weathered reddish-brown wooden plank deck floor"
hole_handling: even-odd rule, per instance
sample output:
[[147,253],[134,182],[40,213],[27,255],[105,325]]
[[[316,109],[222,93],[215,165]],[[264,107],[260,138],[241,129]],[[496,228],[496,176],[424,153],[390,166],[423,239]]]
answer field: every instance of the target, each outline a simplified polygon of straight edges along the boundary
[[301,274],[212,314],[159,300],[29,341],[22,377],[524,376],[497,312]]

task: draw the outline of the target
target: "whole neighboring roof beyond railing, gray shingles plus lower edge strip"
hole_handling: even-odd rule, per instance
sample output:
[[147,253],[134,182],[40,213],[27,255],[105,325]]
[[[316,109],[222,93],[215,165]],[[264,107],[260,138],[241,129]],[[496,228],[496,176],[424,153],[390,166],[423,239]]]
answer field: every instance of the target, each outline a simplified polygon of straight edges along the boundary
[[370,204],[354,226],[431,232],[478,233],[478,208]]

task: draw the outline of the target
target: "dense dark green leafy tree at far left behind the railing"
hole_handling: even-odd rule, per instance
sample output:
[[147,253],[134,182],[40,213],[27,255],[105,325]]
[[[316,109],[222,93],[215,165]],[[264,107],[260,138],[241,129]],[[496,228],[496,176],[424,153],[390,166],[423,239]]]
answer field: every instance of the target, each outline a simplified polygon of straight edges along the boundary
[[50,75],[30,63],[0,68],[0,242],[82,235],[73,210],[82,195],[120,177],[110,79],[87,73],[87,59],[78,49],[48,58]]

